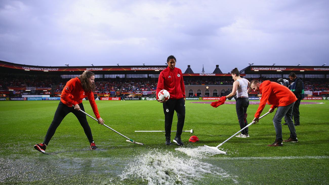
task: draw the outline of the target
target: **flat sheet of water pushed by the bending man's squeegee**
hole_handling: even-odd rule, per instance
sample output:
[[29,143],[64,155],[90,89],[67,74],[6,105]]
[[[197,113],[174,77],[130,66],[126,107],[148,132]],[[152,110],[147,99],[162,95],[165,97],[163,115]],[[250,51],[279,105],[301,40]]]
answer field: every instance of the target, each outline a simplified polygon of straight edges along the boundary
[[214,150],[207,146],[198,146],[196,148],[175,148],[175,150],[181,151],[186,153],[188,156],[197,157],[197,158],[204,158],[207,156],[213,156],[216,154],[225,154],[224,151],[221,150]]

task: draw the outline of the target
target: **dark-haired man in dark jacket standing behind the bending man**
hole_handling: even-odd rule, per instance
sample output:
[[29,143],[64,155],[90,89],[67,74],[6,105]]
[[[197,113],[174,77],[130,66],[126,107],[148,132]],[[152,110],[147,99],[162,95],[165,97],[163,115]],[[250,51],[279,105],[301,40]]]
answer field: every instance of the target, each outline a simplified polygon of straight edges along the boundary
[[297,97],[297,100],[295,101],[295,104],[293,105],[292,116],[293,116],[293,120],[295,121],[295,126],[298,126],[300,124],[299,123],[299,104],[300,104],[300,101],[304,98],[304,83],[300,78],[297,78],[296,74],[293,72],[289,74],[289,79],[291,80],[289,89]]

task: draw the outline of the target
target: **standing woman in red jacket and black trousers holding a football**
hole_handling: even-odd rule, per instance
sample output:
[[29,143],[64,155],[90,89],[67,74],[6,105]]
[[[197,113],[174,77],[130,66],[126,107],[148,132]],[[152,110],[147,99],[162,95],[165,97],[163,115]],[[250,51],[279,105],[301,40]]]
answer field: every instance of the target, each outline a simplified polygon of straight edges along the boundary
[[[171,145],[170,131],[174,111],[177,113],[177,132],[173,140],[177,145],[184,145],[181,140],[181,134],[185,121],[185,85],[182,70],[175,67],[176,58],[170,55],[167,58],[168,67],[161,71],[157,86],[157,101],[163,103],[164,108],[164,130],[165,144]],[[158,94],[161,90],[167,90],[170,98],[167,101],[161,101]]]

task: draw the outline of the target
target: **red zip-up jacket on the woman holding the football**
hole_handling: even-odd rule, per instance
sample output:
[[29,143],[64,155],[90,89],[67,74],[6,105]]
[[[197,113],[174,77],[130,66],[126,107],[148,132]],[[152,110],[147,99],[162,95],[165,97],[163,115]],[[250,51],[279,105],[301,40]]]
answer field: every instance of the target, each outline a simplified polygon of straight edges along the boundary
[[157,86],[157,99],[159,99],[159,92],[163,89],[170,93],[170,99],[185,98],[185,85],[182,70],[177,67],[173,69],[167,67],[161,71]]

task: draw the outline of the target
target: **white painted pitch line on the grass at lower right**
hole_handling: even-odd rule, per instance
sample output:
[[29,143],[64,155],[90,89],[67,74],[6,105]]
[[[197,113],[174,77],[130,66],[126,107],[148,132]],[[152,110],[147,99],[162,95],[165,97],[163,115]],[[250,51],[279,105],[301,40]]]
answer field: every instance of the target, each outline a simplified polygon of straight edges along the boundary
[[221,157],[223,160],[250,160],[250,159],[329,159],[329,156],[283,156],[283,157]]

